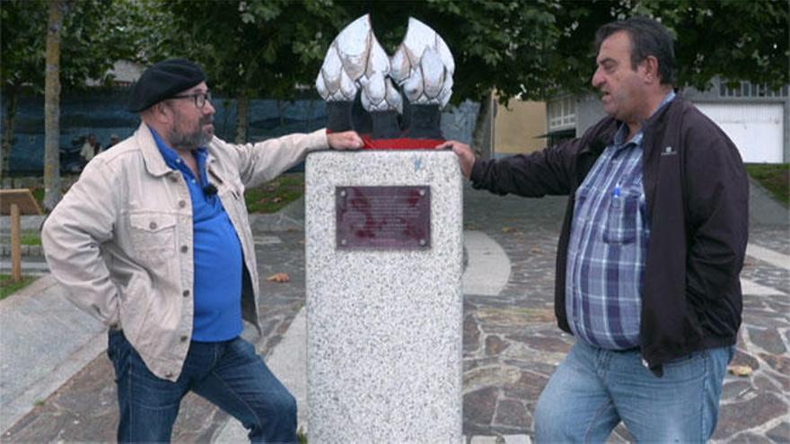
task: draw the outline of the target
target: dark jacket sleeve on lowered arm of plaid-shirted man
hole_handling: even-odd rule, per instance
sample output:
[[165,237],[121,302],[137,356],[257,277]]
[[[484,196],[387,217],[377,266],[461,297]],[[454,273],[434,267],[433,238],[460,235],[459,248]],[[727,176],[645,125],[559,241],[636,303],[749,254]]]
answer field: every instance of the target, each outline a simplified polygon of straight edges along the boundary
[[[701,115],[689,118],[686,144],[686,208],[689,239],[687,297],[707,307],[707,327],[733,334],[740,324],[739,274],[749,231],[749,180],[741,156],[724,132]],[[704,298],[704,300],[699,300]]]

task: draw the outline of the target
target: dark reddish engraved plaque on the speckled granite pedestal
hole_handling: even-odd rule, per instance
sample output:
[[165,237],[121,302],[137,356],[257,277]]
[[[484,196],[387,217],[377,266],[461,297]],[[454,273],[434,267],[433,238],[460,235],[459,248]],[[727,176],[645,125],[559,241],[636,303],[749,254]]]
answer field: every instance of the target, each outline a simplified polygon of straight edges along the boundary
[[431,187],[336,187],[337,248],[431,248]]

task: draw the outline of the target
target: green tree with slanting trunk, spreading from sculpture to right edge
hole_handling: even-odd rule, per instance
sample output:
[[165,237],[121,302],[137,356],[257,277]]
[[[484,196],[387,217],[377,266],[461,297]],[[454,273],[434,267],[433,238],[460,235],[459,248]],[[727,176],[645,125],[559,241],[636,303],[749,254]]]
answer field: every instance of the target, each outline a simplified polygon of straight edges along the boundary
[[338,2],[347,20],[371,13],[376,36],[392,50],[408,16],[434,28],[455,57],[453,101],[481,103],[474,142],[490,120],[492,91],[546,100],[559,91],[589,91],[595,30],[632,15],[663,22],[677,37],[678,86],[705,90],[715,76],[732,81],[790,82],[786,0],[432,0]]

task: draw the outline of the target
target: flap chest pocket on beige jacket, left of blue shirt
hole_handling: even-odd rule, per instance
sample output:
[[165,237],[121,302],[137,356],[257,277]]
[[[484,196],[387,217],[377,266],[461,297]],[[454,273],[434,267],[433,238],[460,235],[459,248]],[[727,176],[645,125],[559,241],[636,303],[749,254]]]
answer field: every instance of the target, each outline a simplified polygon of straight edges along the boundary
[[130,213],[129,235],[136,256],[161,263],[175,253],[176,217],[165,213]]

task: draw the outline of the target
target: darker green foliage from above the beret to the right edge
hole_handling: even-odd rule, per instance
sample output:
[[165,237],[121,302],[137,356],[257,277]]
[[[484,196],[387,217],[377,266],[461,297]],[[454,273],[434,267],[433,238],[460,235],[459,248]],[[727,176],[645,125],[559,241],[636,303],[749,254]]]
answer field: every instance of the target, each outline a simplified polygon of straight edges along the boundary
[[786,0],[178,0],[162,7],[188,38],[180,50],[230,93],[293,97],[295,84],[312,85],[338,31],[364,13],[391,53],[409,16],[434,28],[455,57],[454,101],[495,89],[503,100],[589,89],[595,30],[632,15],[654,17],[675,34],[679,86],[704,90],[717,75],[790,82]]

